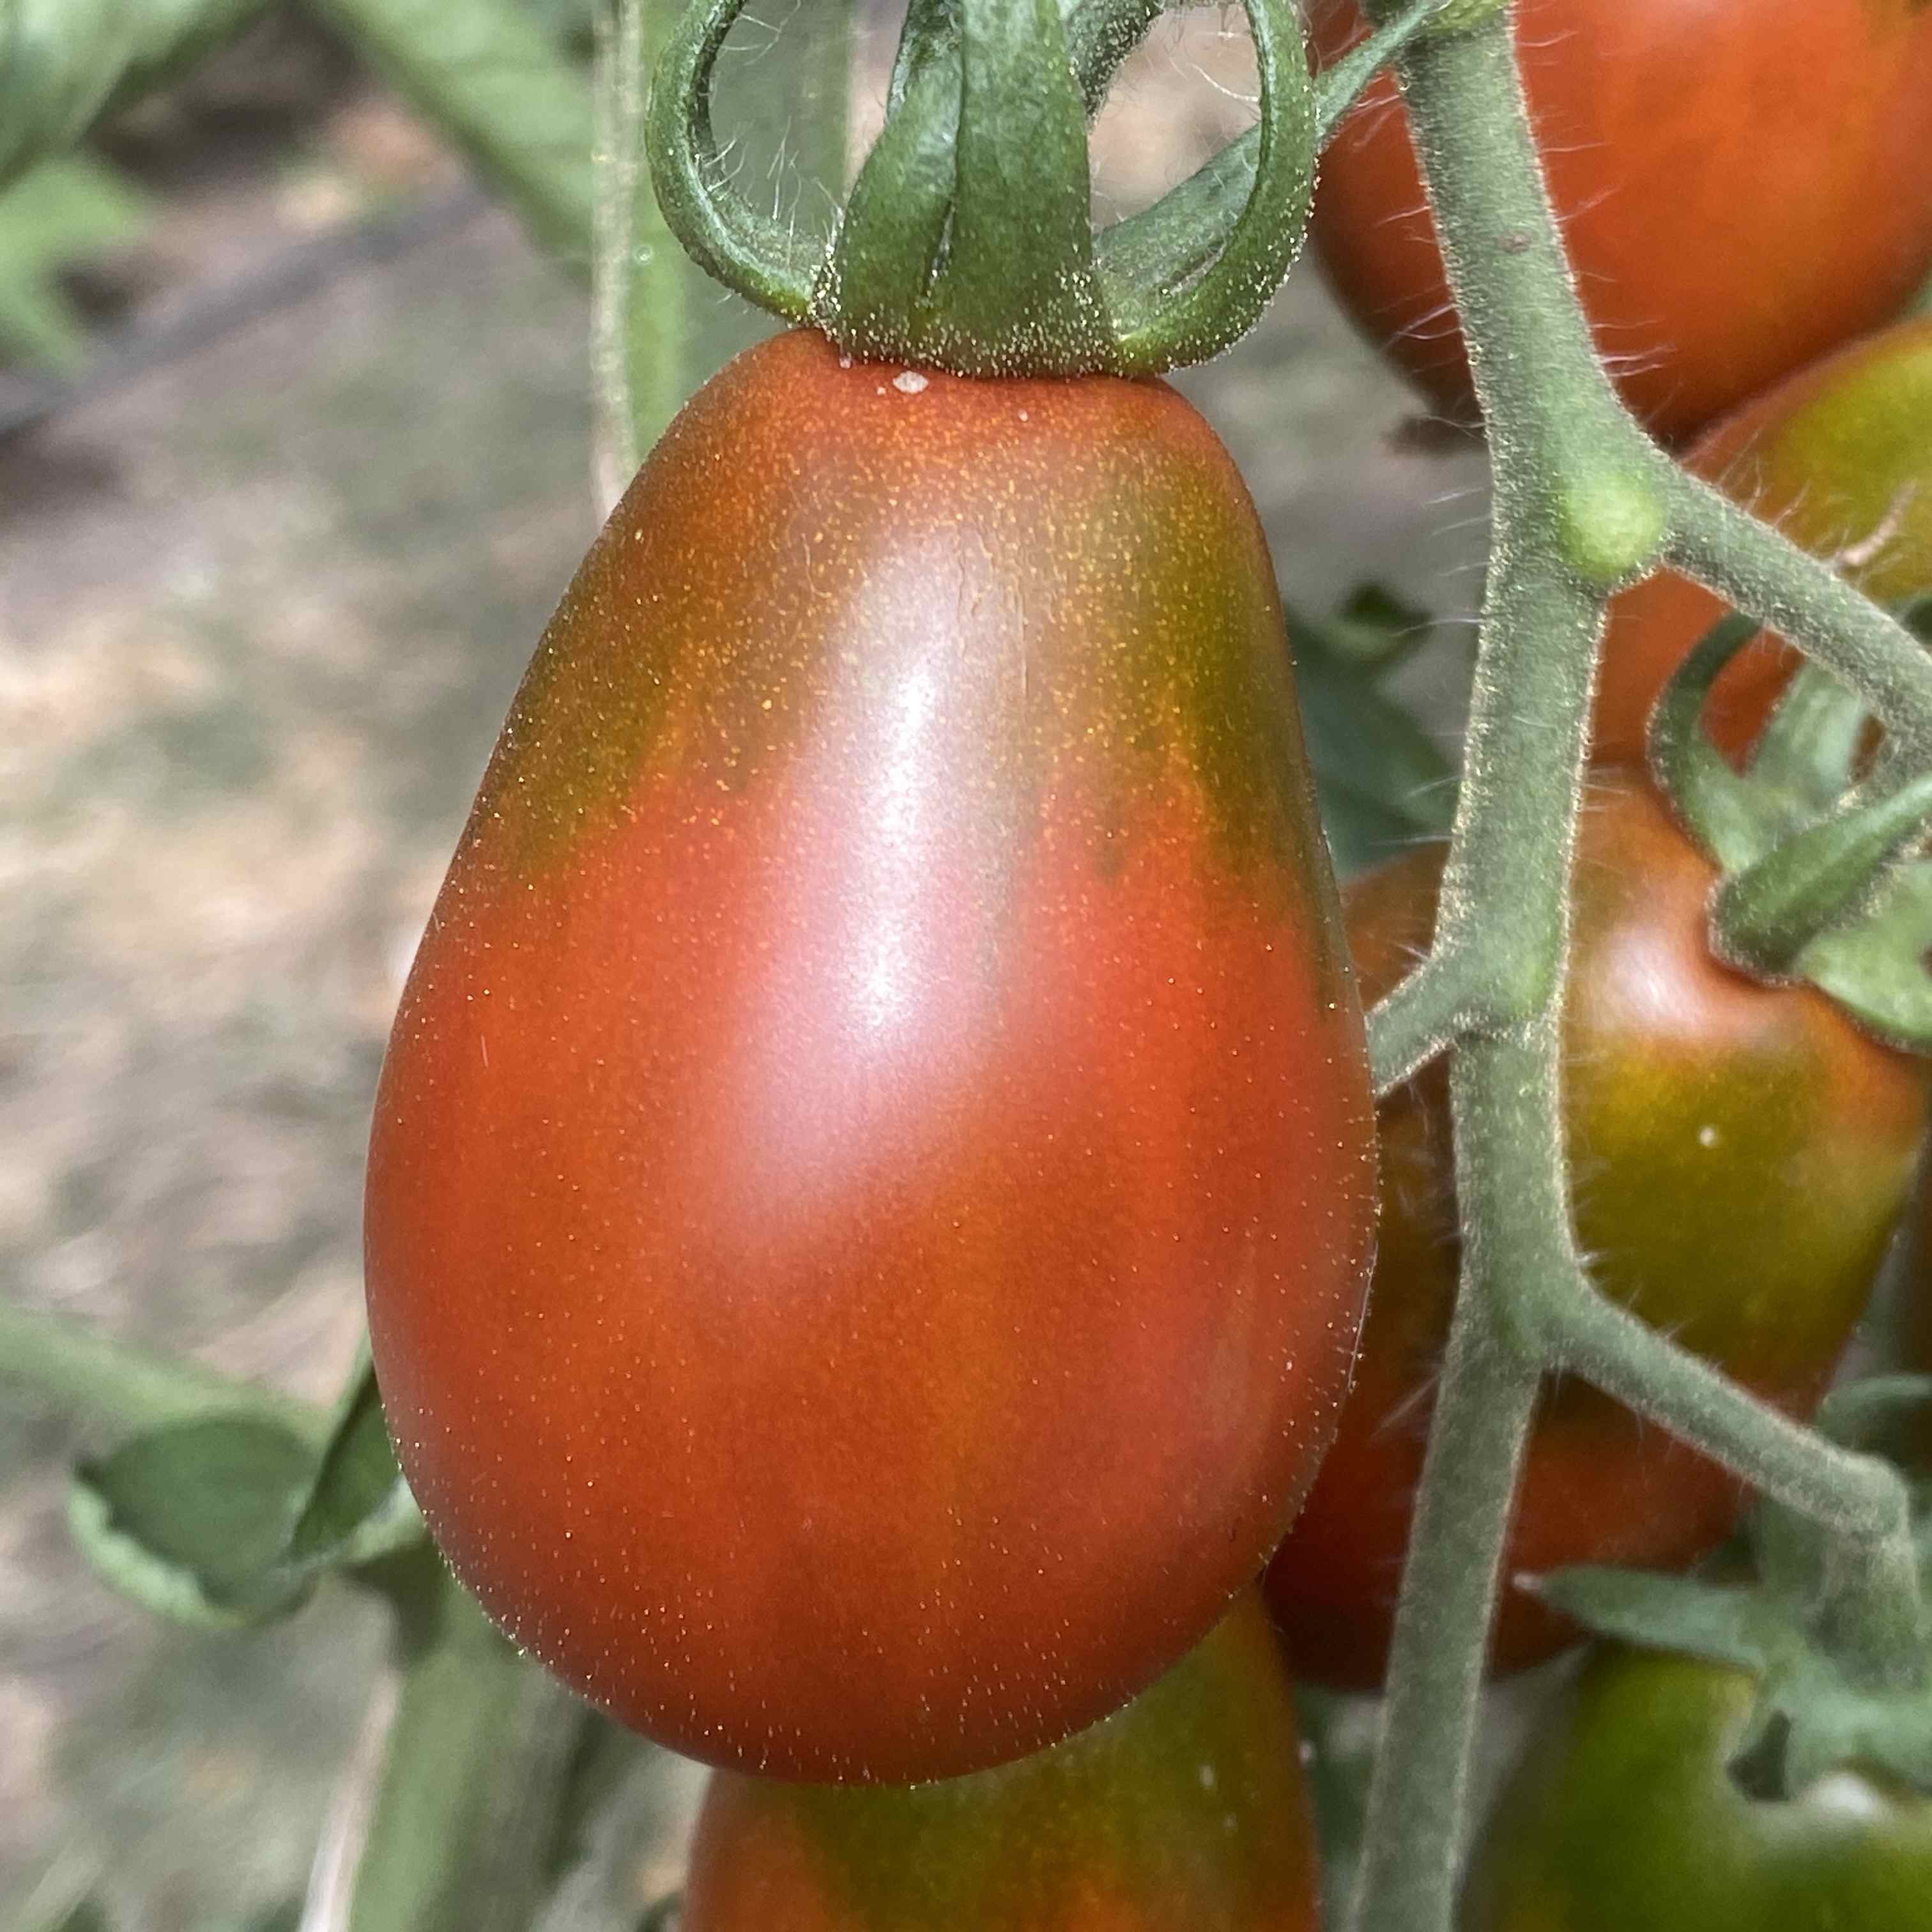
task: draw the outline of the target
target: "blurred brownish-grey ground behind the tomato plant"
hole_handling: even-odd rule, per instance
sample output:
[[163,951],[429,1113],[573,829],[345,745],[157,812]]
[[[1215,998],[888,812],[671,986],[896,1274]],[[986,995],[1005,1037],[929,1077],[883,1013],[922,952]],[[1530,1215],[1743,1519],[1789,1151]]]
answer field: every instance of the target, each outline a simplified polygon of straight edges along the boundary
[[[862,37],[860,122],[889,48]],[[1219,15],[1163,23],[1095,133],[1103,201],[1219,145],[1250,77]],[[89,363],[0,371],[0,1293],[328,1401],[390,1009],[595,529],[587,301],[296,12],[93,153],[139,213],[48,263]],[[280,305],[243,319],[263,274]],[[699,315],[713,355],[746,340]],[[184,319],[201,346],[151,361]],[[1418,429],[1314,267],[1182,386],[1291,603],[1374,578],[1466,616],[1480,452]],[[1441,726],[1463,636],[1410,672]],[[294,1924],[383,1619],[344,1588],[243,1634],[126,1607],[64,1530],[100,1447],[0,1387],[0,1926],[89,1891],[141,1932]],[[674,1861],[632,1833],[605,1891],[634,1909]]]

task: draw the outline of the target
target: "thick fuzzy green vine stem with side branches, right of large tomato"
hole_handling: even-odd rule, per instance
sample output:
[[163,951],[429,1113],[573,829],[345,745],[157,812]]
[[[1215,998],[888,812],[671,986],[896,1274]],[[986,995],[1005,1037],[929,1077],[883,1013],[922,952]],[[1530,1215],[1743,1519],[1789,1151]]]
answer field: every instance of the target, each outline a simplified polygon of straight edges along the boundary
[[[1463,19],[1463,15],[1455,15]],[[1561,1151],[1561,1012],[1605,597],[1671,564],[1843,676],[1913,769],[1932,659],[1785,539],[1683,475],[1596,359],[1544,191],[1509,10],[1403,52],[1493,462],[1464,782],[1428,960],[1370,1020],[1378,1086],[1447,1047],[1463,1281],[1435,1395],[1368,1804],[1356,1932],[1449,1932],[1497,1567],[1540,1376],[1571,1368],[1837,1538],[1824,1621],[1918,1629],[1907,1495],[1884,1463],[1756,1403],[1604,1302]]]

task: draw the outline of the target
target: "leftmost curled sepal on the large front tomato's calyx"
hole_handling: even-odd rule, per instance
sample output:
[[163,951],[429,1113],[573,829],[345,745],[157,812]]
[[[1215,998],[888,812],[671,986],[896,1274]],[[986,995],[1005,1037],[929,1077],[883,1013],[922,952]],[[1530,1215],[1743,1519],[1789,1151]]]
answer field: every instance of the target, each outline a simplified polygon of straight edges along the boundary
[[667,226],[705,274],[802,323],[819,249],[738,193],[711,128],[717,58],[742,12],[744,0],[697,0],[672,29],[645,114],[651,185]]

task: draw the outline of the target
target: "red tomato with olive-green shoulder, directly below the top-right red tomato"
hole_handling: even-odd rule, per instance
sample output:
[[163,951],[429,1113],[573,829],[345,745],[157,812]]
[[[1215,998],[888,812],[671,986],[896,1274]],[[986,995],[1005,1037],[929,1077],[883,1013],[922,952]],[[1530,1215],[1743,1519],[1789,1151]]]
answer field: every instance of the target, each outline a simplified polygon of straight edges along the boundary
[[[1685,464],[1833,558],[1868,597],[1932,589],[1932,319],[1880,330],[1779,383],[1700,437]],[[1596,757],[1642,759],[1650,707],[1727,609],[1675,572],[1611,603]],[[1704,726],[1733,757],[1764,728],[1795,665],[1787,645],[1764,638],[1725,667]]]

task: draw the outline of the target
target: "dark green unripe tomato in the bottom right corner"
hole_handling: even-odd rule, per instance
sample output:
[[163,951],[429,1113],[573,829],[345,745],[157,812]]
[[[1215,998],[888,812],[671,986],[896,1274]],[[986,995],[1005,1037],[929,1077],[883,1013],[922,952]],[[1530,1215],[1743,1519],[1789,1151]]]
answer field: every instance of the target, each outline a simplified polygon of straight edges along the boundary
[[1696,1658],[1594,1656],[1476,1849],[1464,1932],[1932,1928],[1932,1801],[1851,1770],[1748,1797],[1729,1764],[1754,1690]]

